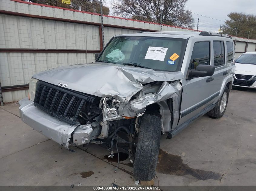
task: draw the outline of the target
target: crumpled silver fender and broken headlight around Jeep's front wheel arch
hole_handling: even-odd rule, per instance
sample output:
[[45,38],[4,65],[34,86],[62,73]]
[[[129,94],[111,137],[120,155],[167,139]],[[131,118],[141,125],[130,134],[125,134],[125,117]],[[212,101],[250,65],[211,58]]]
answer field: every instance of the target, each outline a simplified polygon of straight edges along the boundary
[[[155,113],[161,116],[162,132],[170,132],[176,127],[180,116],[182,86],[180,81],[167,82],[155,81],[143,86],[128,103],[113,97],[105,97],[102,100],[102,131],[98,138],[107,138],[108,121],[119,119],[134,119],[147,113]],[[158,107],[150,107],[158,104]],[[156,109],[156,110],[155,110]],[[106,127],[107,126],[107,127]]]

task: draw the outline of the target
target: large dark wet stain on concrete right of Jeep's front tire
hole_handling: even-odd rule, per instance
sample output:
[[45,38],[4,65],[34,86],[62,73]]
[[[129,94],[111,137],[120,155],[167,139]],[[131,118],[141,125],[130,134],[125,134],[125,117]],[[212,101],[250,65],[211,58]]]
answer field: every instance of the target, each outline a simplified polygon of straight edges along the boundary
[[181,156],[159,150],[157,169],[159,173],[176,176],[191,175],[198,180],[221,180],[221,174],[212,171],[193,169],[183,163]]

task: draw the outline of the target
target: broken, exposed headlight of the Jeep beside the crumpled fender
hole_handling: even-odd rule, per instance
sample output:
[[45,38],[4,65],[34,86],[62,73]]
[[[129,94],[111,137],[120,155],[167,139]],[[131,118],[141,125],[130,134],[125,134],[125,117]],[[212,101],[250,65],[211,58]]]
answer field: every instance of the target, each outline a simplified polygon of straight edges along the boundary
[[105,97],[104,99],[104,115],[105,118],[110,119],[116,119],[120,117],[120,114],[118,112],[118,107],[120,105],[121,101],[112,98],[112,97]]

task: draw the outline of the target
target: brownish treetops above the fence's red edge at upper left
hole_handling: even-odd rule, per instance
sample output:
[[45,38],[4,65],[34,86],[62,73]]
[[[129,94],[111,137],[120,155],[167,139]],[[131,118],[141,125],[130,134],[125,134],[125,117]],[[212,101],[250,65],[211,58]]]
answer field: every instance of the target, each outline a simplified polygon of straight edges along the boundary
[[[98,0],[71,0],[71,5],[62,3],[62,0],[25,0],[25,1],[100,14],[100,1]],[[109,15],[109,8],[105,5],[102,5],[102,12],[105,15]]]

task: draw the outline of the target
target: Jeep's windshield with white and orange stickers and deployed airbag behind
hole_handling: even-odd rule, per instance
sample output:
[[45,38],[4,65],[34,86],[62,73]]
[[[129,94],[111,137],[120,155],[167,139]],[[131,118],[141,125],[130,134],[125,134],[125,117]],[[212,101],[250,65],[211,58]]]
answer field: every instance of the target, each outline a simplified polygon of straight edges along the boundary
[[175,72],[181,68],[185,41],[162,37],[114,37],[97,62]]

